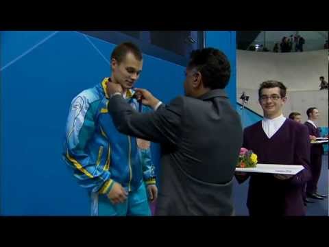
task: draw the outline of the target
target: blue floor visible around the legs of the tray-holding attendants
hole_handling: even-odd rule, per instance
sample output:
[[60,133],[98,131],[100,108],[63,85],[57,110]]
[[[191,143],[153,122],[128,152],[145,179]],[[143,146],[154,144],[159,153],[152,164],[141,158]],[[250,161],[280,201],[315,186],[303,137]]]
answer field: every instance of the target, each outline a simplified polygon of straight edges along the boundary
[[[322,156],[321,176],[318,183],[318,192],[328,195],[328,155]],[[245,205],[247,202],[247,189],[249,180],[239,185],[234,179],[234,207],[236,215],[248,215],[248,210]],[[328,198],[324,200],[313,200],[315,203],[308,204],[306,215],[329,215],[328,213]]]

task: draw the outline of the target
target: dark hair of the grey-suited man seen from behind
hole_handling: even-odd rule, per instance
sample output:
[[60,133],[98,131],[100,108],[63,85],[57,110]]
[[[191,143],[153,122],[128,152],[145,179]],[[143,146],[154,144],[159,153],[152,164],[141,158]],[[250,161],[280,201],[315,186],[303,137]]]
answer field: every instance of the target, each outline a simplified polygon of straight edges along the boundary
[[215,48],[192,51],[187,67],[197,69],[202,75],[204,86],[210,89],[224,89],[230,80],[230,62],[223,52]]

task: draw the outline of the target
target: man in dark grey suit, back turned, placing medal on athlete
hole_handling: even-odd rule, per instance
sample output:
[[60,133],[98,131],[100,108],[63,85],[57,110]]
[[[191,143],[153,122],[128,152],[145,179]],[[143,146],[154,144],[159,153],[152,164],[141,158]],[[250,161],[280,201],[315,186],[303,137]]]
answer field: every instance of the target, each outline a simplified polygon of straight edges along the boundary
[[136,89],[152,113],[138,113],[108,83],[108,110],[120,132],[161,144],[156,215],[233,215],[232,178],[242,144],[241,119],[223,90],[230,62],[213,48],[195,50],[186,68],[186,96],[164,106]]

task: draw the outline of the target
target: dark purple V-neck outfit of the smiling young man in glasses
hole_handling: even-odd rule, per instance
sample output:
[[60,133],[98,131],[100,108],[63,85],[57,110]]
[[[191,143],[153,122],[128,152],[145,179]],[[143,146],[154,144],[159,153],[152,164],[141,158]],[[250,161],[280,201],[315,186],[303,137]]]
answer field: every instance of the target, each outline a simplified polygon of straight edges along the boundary
[[[268,215],[304,215],[302,191],[306,180],[310,179],[310,141],[306,126],[286,119],[269,139],[262,121],[258,121],[245,128],[243,147],[258,155],[258,163],[305,167],[287,180],[279,180],[273,174],[250,175],[247,207]],[[243,180],[246,179],[247,176]]]

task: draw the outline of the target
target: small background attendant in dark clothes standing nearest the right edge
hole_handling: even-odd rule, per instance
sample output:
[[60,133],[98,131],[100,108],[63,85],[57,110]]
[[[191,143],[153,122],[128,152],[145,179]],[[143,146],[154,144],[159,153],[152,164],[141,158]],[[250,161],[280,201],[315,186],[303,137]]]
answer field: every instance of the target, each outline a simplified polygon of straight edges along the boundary
[[[320,137],[319,128],[315,121],[319,118],[319,110],[315,107],[306,110],[308,120],[305,125],[308,128],[308,134],[313,137]],[[310,171],[312,172],[312,179],[306,184],[306,195],[308,198],[323,200],[327,196],[321,195],[317,192],[317,182],[321,174],[322,154],[324,154],[324,147],[322,144],[311,143],[310,145]]]

